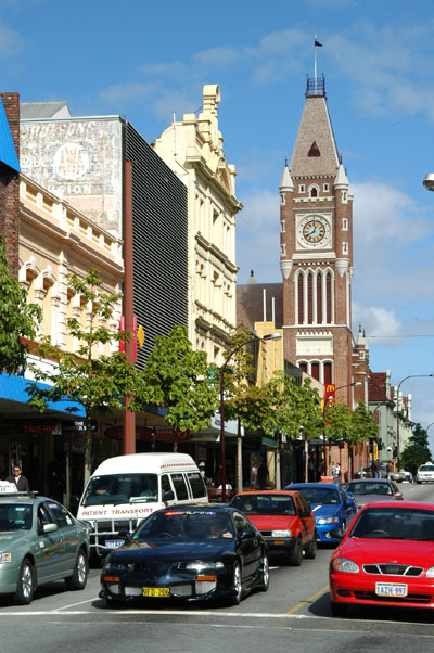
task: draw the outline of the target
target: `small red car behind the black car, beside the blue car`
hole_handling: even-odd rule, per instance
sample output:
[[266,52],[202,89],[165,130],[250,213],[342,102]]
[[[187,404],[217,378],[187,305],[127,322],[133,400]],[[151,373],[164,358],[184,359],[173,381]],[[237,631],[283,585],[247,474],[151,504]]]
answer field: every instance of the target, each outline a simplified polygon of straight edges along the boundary
[[247,490],[233,497],[231,505],[256,526],[271,552],[286,553],[293,566],[317,554],[315,516],[302,492]]

